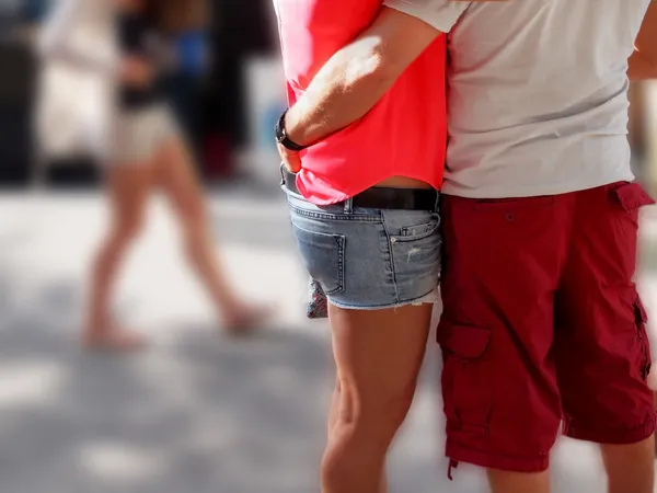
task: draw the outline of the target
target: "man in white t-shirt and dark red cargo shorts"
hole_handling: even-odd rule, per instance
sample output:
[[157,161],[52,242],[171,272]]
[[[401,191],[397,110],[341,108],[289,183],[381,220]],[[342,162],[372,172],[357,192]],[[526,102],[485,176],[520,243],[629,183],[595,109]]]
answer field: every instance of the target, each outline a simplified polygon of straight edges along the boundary
[[[652,199],[633,183],[626,133],[627,74],[657,77],[657,4],[384,4],[285,124],[301,145],[338,131],[449,33],[438,340],[450,469],[486,468],[494,492],[545,493],[563,423],[606,444],[611,493],[653,492],[650,353],[632,280],[638,209]],[[381,471],[346,463],[354,426],[331,444],[324,475],[338,479],[324,493],[377,493],[359,484]]]

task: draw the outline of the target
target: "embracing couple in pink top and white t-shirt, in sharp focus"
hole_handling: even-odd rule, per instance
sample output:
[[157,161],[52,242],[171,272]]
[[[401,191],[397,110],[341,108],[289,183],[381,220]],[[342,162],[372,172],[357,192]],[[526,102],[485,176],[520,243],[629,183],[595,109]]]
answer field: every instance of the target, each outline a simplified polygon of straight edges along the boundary
[[441,297],[450,470],[548,493],[561,429],[600,444],[610,493],[652,493],[626,134],[655,2],[274,1],[283,188],[337,367],[322,492],[387,491]]

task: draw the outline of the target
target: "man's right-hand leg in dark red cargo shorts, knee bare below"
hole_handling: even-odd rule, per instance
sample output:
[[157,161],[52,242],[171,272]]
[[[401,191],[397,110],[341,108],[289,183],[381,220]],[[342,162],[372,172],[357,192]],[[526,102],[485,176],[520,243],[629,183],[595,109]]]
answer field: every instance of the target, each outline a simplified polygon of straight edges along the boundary
[[557,294],[564,434],[603,444],[610,493],[652,493],[656,419],[647,317],[634,285],[638,184],[579,192]]

